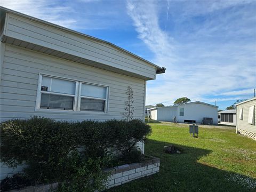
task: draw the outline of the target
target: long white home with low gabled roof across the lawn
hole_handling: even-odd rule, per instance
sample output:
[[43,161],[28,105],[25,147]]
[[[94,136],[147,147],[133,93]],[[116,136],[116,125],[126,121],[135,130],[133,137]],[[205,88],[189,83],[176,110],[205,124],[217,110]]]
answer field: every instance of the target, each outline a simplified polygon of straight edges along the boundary
[[218,106],[196,101],[178,106],[154,107],[150,110],[151,119],[157,121],[173,122],[174,117],[178,123],[203,123],[211,121],[218,124]]

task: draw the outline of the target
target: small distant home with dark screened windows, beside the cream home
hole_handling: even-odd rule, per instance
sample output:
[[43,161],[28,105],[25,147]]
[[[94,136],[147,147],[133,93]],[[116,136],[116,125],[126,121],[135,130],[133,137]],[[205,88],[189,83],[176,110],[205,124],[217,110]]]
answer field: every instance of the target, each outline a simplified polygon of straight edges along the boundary
[[220,111],[220,124],[236,126],[236,109]]

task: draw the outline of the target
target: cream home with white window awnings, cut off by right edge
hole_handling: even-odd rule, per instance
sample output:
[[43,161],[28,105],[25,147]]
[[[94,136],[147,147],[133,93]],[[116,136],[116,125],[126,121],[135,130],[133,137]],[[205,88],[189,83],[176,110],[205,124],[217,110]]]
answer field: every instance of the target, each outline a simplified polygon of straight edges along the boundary
[[236,131],[256,140],[256,97],[236,105]]

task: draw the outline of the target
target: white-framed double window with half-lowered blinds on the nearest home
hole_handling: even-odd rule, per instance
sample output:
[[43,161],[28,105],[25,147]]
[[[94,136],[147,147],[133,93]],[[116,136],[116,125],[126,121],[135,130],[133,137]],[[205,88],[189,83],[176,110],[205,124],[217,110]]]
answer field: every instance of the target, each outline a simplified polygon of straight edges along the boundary
[[108,86],[40,75],[37,109],[107,113]]

